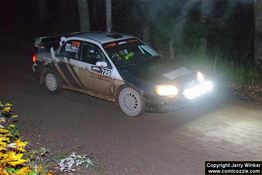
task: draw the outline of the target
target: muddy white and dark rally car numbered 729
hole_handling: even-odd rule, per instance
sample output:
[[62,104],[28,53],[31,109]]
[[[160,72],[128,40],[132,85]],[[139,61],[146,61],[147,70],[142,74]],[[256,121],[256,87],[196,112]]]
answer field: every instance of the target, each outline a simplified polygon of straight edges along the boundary
[[115,102],[129,116],[188,106],[212,89],[202,73],[115,32],[37,37],[33,71],[51,94],[63,89]]

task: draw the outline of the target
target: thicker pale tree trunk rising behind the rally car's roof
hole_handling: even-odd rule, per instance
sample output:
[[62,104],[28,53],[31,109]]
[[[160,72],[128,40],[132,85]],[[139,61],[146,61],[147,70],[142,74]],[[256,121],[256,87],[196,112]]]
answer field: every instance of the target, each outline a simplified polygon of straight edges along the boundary
[[87,0],[78,0],[81,32],[90,31],[89,10]]

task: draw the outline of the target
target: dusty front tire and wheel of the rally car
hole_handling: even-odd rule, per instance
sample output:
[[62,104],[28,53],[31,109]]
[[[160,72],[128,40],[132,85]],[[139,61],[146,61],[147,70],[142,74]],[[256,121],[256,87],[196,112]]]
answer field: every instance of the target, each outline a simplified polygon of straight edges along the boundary
[[135,117],[145,113],[145,103],[142,95],[131,87],[122,89],[118,96],[121,110],[129,116]]

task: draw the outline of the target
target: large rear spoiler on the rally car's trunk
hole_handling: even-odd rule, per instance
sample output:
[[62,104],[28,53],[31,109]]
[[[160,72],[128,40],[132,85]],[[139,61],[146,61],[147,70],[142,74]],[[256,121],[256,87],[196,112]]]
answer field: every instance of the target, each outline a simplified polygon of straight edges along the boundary
[[36,37],[35,38],[35,47],[37,48],[47,48],[43,46],[44,45],[50,45],[55,42],[60,42],[61,40],[65,40],[66,37],[74,34],[78,34],[81,32],[75,32],[75,33],[67,33],[67,34],[60,34],[60,35],[51,35],[51,36],[43,36],[43,37]]

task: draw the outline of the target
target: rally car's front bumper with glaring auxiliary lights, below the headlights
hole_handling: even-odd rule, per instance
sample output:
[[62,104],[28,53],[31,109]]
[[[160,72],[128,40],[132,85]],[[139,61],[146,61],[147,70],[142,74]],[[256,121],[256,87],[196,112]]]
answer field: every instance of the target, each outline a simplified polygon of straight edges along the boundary
[[185,89],[183,93],[179,94],[178,96],[166,97],[156,95],[144,95],[146,111],[164,113],[189,106],[202,99],[205,96],[205,94],[212,89],[212,83],[210,89],[203,86],[203,84],[204,83],[199,85],[193,85]]

